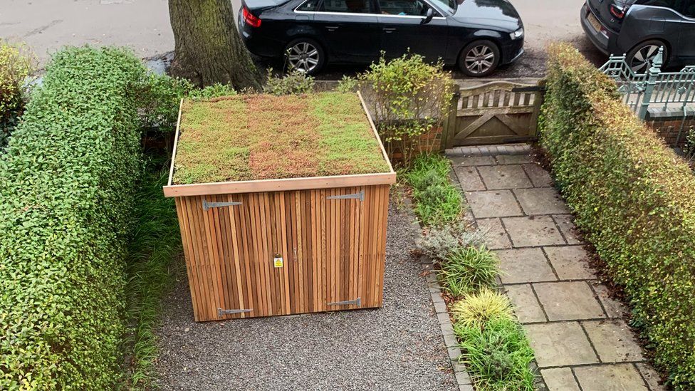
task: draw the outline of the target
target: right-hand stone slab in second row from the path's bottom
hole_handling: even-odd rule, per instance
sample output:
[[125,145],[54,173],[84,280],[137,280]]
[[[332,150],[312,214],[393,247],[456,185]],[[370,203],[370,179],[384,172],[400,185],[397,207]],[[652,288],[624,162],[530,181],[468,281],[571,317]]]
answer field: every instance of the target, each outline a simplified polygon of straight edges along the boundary
[[596,320],[582,322],[582,325],[602,362],[644,361],[642,348],[637,345],[625,320]]

